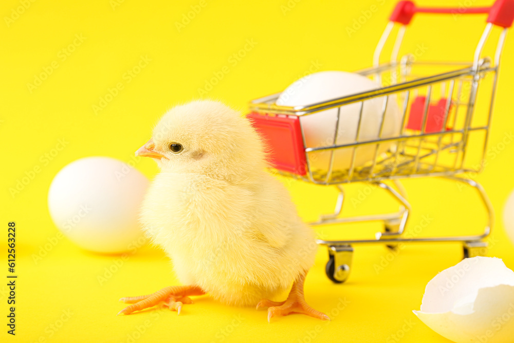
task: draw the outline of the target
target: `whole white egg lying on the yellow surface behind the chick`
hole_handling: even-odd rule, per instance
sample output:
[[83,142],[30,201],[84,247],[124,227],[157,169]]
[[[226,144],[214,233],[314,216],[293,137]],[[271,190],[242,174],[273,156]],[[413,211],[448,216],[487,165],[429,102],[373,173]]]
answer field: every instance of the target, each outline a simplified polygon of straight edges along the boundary
[[119,253],[141,244],[139,206],[148,179],[114,158],[86,157],[53,178],[48,208],[53,222],[78,246]]

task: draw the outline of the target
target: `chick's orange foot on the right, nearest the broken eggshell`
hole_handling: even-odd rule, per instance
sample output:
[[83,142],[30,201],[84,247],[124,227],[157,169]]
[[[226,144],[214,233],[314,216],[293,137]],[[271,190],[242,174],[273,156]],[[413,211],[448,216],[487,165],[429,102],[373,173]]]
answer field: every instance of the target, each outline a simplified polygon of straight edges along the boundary
[[270,322],[271,317],[287,316],[291,313],[303,313],[321,320],[330,320],[326,314],[316,311],[305,302],[303,295],[303,283],[305,281],[306,274],[307,273],[301,275],[298,280],[293,283],[291,292],[289,292],[289,296],[286,301],[277,302],[268,299],[259,301],[257,309],[268,308],[268,322]]

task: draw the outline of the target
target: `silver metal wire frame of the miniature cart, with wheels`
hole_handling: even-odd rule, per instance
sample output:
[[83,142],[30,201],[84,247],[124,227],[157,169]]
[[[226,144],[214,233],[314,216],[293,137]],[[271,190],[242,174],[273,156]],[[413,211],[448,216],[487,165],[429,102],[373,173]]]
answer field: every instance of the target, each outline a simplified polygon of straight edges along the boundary
[[[412,7],[411,5],[412,4]],[[252,113],[268,117],[296,118],[300,122],[301,137],[303,141],[302,153],[305,156],[306,172],[304,175],[291,173],[284,170],[277,170],[279,174],[303,180],[304,182],[318,185],[332,185],[339,193],[333,213],[321,215],[319,220],[310,225],[321,226],[331,224],[347,224],[355,222],[381,221],[384,224],[384,231],[378,232],[375,239],[362,240],[337,240],[328,241],[318,239],[319,245],[327,246],[329,260],[326,265],[326,274],[329,279],[336,283],[344,282],[349,274],[353,257],[353,245],[358,244],[386,244],[395,248],[399,243],[416,242],[461,242],[463,244],[464,257],[484,256],[487,254],[487,243],[484,241],[494,225],[494,211],[489,198],[483,187],[470,178],[458,176],[466,172],[478,172],[484,165],[487,152],[487,141],[493,113],[494,97],[498,81],[500,59],[505,43],[508,27],[505,22],[498,23],[494,18],[493,9],[504,12],[501,6],[512,5],[510,1],[498,1],[490,8],[468,8],[468,13],[489,13],[488,23],[474,50],[471,62],[438,62],[438,61],[414,61],[412,55],[405,55],[398,60],[398,53],[406,32],[407,25],[414,13],[452,13],[452,9],[419,8],[411,2],[400,2],[387,24],[386,29],[376,46],[373,55],[373,67],[357,71],[363,76],[372,77],[377,83],[384,84],[384,79],[389,76],[390,84],[373,91],[353,94],[346,97],[332,99],[325,102],[315,103],[307,106],[280,106],[276,104],[281,93],[259,98],[250,102],[249,107]],[[411,6],[411,7],[409,7]],[[512,7],[510,8],[510,10]],[[456,10],[456,9],[453,9]],[[462,10],[459,10],[462,12]],[[396,15],[395,15],[396,13]],[[407,14],[406,14],[407,13]],[[512,13],[511,13],[512,14]],[[410,15],[409,18],[405,16]],[[491,19],[492,16],[492,19]],[[512,21],[510,21],[512,23]],[[394,27],[400,24],[396,36],[392,38]],[[503,29],[499,34],[496,43],[494,59],[482,57],[482,51],[486,45],[493,25],[501,26]],[[384,46],[394,41],[391,57],[388,62],[380,63]],[[425,74],[423,76],[413,75],[413,68],[417,67],[444,67],[446,70],[438,74]],[[473,121],[476,97],[486,93],[487,89],[479,89],[479,85],[485,77],[492,77],[492,87],[489,90],[490,99],[488,113],[482,118],[480,124]],[[441,129],[438,131],[427,131],[427,116],[431,100],[437,95],[434,92],[440,90],[439,99],[447,99],[444,108],[444,118]],[[419,130],[408,130],[406,124],[412,114],[414,96],[425,94],[425,105],[423,119]],[[396,97],[396,98],[395,98]],[[380,124],[378,138],[374,140],[358,140],[364,102],[372,98],[383,99],[382,121]],[[401,129],[400,134],[394,137],[382,137],[384,127],[384,116],[388,101],[401,103]],[[463,100],[464,99],[464,100]],[[340,110],[344,105],[360,103],[359,121],[357,126],[356,141],[352,143],[338,144],[338,127]],[[321,147],[308,147],[306,145],[305,133],[301,125],[301,117],[313,115],[322,111],[337,109],[336,127],[332,143]],[[409,114],[409,110],[411,111]],[[457,113],[458,111],[458,113]],[[452,115],[450,115],[452,114]],[[453,117],[453,119],[451,118]],[[458,119],[457,119],[458,118]],[[471,134],[481,132],[483,135],[480,170],[470,168],[466,164],[468,153],[468,141]],[[380,144],[391,144],[387,153],[379,153]],[[374,158],[364,166],[357,166],[355,157],[357,148],[363,146],[374,146]],[[352,160],[348,170],[335,170],[335,151],[339,149],[352,149]],[[311,168],[311,158],[317,152],[330,152],[329,165],[326,170],[315,170]],[[444,155],[444,156],[443,156]],[[451,158],[449,158],[451,156]],[[453,160],[451,160],[453,159]],[[411,177],[438,176],[451,179],[455,182],[473,187],[483,203],[487,215],[487,223],[484,231],[480,234],[469,236],[448,236],[448,237],[405,237],[411,205],[407,200],[407,194],[400,184],[400,179]],[[385,182],[390,181],[392,185]],[[374,214],[365,216],[341,217],[344,203],[343,184],[368,183],[375,185],[391,195],[399,204],[399,210],[394,213]],[[394,185],[394,187],[393,187]]]

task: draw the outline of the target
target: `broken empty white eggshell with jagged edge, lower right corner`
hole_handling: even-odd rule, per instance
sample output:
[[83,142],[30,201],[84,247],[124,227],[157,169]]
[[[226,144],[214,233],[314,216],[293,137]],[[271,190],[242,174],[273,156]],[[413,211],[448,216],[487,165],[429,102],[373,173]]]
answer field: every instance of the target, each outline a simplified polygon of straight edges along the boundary
[[421,310],[413,312],[457,343],[511,343],[514,272],[501,259],[465,259],[430,280]]

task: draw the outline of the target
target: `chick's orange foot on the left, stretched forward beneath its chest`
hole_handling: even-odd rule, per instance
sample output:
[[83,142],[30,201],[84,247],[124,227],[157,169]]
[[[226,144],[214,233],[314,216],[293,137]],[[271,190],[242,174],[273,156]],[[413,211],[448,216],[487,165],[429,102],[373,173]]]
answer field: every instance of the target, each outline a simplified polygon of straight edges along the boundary
[[162,288],[153,294],[142,295],[139,297],[125,297],[120,301],[132,304],[121,310],[120,314],[131,314],[135,311],[141,311],[151,308],[159,303],[163,303],[172,311],[177,311],[180,314],[183,304],[192,304],[193,301],[189,296],[203,295],[205,292],[198,286],[170,286]]

